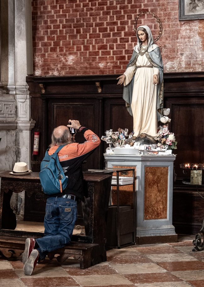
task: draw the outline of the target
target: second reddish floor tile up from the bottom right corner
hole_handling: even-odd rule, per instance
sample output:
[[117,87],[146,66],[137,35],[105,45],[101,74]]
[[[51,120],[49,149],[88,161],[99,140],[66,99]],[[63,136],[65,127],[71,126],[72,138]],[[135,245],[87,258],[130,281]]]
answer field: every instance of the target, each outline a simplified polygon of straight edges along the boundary
[[157,264],[170,272],[204,269],[204,262],[201,261],[158,262]]

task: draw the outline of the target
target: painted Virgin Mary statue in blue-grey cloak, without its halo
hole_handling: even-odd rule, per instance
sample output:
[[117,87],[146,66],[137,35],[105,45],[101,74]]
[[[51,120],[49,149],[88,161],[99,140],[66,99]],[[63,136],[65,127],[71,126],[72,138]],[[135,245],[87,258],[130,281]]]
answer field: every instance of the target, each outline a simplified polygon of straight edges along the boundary
[[137,45],[118,84],[124,85],[123,99],[133,116],[134,137],[155,137],[164,99],[163,62],[148,26],[137,28]]

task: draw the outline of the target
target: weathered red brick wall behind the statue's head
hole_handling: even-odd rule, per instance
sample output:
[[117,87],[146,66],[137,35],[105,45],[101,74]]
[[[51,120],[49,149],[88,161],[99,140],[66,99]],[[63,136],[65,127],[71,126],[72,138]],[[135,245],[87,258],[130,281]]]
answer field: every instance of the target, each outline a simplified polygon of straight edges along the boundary
[[[202,71],[204,20],[179,21],[178,0],[32,0],[34,74],[124,72],[136,45],[133,22],[141,11],[161,20],[164,72]],[[158,33],[154,19],[138,21]]]

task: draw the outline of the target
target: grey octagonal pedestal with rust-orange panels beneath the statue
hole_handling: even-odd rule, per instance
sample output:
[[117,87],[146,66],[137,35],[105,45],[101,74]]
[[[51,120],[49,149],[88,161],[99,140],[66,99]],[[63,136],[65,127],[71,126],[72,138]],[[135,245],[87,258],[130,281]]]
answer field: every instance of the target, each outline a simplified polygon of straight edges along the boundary
[[[173,165],[176,156],[104,154],[104,157],[107,168],[135,167],[136,244],[177,242],[172,225]],[[120,204],[130,204],[130,196],[128,186],[121,186]]]

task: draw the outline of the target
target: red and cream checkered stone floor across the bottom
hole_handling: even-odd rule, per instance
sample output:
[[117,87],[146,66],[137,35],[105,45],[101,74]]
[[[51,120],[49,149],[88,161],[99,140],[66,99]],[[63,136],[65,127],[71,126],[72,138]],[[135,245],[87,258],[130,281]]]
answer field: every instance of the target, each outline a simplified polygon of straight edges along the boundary
[[192,252],[194,238],[112,249],[107,251],[107,262],[85,270],[71,259],[62,264],[46,260],[31,276],[24,275],[22,258],[1,257],[0,287],[203,287],[204,251]]

